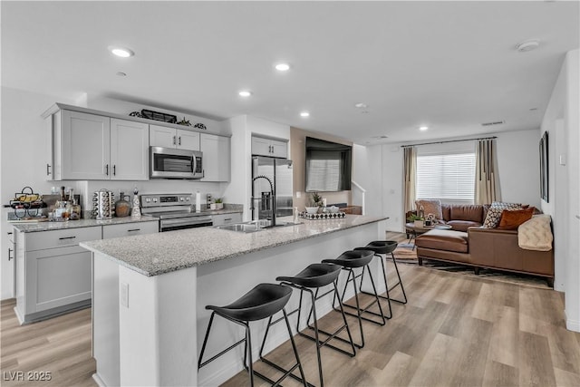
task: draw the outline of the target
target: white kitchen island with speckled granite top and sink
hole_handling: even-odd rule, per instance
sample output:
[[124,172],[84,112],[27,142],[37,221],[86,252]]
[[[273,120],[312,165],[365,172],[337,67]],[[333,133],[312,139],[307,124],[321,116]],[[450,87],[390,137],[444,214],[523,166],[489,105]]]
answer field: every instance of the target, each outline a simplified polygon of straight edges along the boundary
[[[210,314],[205,305],[226,305],[258,283],[274,283],[276,276],[294,275],[311,263],[364,246],[378,238],[378,222],[384,219],[348,215],[247,234],[201,227],[83,242],[93,256],[95,380],[107,386],[225,382],[242,369],[243,346],[198,374]],[[374,262],[374,273],[378,267]],[[323,301],[320,315],[332,309],[330,295]],[[294,305],[295,295],[288,308]],[[264,324],[253,329],[262,332]],[[287,340],[285,327],[278,325],[266,352]],[[242,334],[220,319],[214,326],[208,355]]]

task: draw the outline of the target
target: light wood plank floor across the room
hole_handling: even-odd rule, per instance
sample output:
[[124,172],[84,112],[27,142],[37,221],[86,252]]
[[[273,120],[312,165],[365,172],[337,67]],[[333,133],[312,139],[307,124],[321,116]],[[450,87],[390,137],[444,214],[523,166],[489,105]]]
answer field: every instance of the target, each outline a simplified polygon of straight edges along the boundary
[[[580,385],[580,334],[565,329],[562,294],[426,267],[400,268],[409,303],[393,305],[394,317],[385,326],[363,325],[366,345],[356,357],[323,348],[325,385]],[[13,300],[2,303],[3,386],[96,385],[90,309],[19,326],[13,307]],[[336,320],[331,314],[322,324]],[[314,343],[297,336],[296,343],[306,377],[317,385]],[[284,344],[268,357],[284,364],[293,355]],[[276,375],[262,364],[256,368]],[[14,371],[52,372],[52,381],[6,381]],[[247,383],[247,373],[240,372],[226,385]],[[259,378],[256,385],[262,385]]]

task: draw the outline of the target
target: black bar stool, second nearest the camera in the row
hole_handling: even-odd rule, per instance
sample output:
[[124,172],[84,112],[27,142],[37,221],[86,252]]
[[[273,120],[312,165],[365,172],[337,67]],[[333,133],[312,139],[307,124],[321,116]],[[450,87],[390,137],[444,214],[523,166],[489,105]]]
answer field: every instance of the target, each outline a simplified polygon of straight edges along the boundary
[[[338,287],[336,286],[336,278],[338,278],[338,275],[341,272],[341,266],[337,266],[337,265],[331,265],[331,264],[312,264],[307,266],[306,268],[304,268],[303,271],[301,271],[300,273],[298,273],[295,276],[278,276],[275,280],[276,281],[282,281],[281,285],[286,285],[286,286],[291,286],[294,287],[295,289],[300,290],[300,302],[298,304],[298,307],[290,312],[289,314],[294,314],[296,312],[298,312],[298,319],[296,322],[296,331],[298,334],[300,334],[301,336],[304,336],[307,339],[313,340],[314,342],[316,342],[316,355],[318,358],[318,377],[320,379],[320,386],[324,386],[324,377],[323,377],[323,365],[322,365],[322,360],[320,357],[320,348],[323,345],[326,345],[330,348],[333,348],[334,350],[341,352],[341,353],[345,353],[349,356],[354,356],[356,354],[356,349],[354,348],[354,343],[353,343],[353,336],[351,334],[351,330],[348,327],[348,324],[346,322],[346,316],[344,315],[344,310],[343,310],[343,303],[341,302],[340,298],[338,298]],[[317,323],[317,316],[316,316],[316,300],[324,297],[324,295],[318,295],[318,290],[321,289],[322,287],[326,286],[326,285],[330,285],[333,284],[333,289],[324,293],[324,295],[328,295],[330,293],[334,293],[334,297],[338,298],[339,300],[339,305],[340,305],[340,312],[343,314],[343,325],[341,327],[339,327],[335,332],[333,333],[328,333],[328,332],[324,332],[320,329],[318,329],[318,323]],[[316,292],[314,294],[312,289],[316,289]],[[303,301],[303,294],[304,292],[307,292],[310,294],[310,298],[311,298],[311,307],[310,307],[310,313],[308,314],[308,318],[306,320],[306,324],[308,324],[308,327],[314,330],[314,337],[309,335],[309,334],[304,334],[303,332],[300,332],[299,330],[299,324],[300,324],[300,314],[302,311],[302,301]],[[310,316],[313,316],[314,318],[314,326],[311,326],[309,324],[310,321]],[[279,319],[275,322],[272,322],[272,318],[270,317],[270,322],[268,324],[268,328],[270,327],[270,325],[273,325],[275,323],[277,323],[278,321],[280,321]],[[343,332],[343,330],[346,329],[346,333],[348,334],[349,340],[345,340],[342,337],[338,337],[337,334]],[[328,337],[321,342],[319,334],[326,334]],[[267,331],[266,331],[267,334]],[[337,339],[340,341],[343,341],[344,343],[350,343],[351,344],[351,350],[352,352],[348,352],[343,350],[342,348],[336,347],[333,344],[329,343],[332,339]],[[265,336],[265,340],[266,340],[266,336]],[[264,344],[262,344],[262,346],[264,346]],[[260,351],[261,353],[261,351]],[[294,374],[291,374],[290,376],[295,377]]]

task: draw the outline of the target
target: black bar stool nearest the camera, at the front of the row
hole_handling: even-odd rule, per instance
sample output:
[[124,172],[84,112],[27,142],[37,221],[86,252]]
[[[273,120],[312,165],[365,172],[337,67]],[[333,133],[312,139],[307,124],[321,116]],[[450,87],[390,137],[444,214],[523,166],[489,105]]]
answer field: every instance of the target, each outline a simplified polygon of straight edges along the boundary
[[[286,376],[292,374],[296,367],[300,370],[302,375],[302,382],[306,386],[306,378],[304,376],[304,370],[302,369],[302,363],[300,363],[300,358],[298,357],[298,352],[296,351],[296,345],[294,342],[294,337],[292,336],[292,329],[290,328],[290,323],[288,322],[288,316],[285,311],[285,305],[288,303],[290,296],[292,295],[292,289],[283,285],[275,284],[259,284],[256,285],[252,290],[247,292],[246,295],[242,295],[237,301],[234,301],[230,305],[226,306],[214,306],[207,305],[206,309],[212,310],[211,317],[209,317],[208,330],[206,331],[206,336],[203,340],[201,346],[201,353],[199,353],[198,369],[207,365],[210,362],[216,360],[219,356],[227,353],[228,351],[234,349],[240,343],[245,343],[244,350],[244,368],[246,368],[250,377],[250,385],[254,386],[254,374],[260,378],[272,383],[273,385],[278,385],[282,382]],[[272,381],[260,372],[256,372],[252,365],[252,338],[250,335],[250,321],[262,320],[267,317],[272,317],[274,314],[282,311],[284,314],[284,319],[286,322],[286,328],[288,329],[288,334],[290,335],[290,342],[292,343],[292,349],[294,350],[296,363],[292,366],[290,370],[284,370],[282,367],[276,365],[278,370],[282,370],[285,374],[278,379],[276,382]],[[214,316],[218,314],[221,317],[244,326],[246,328],[246,337],[229,346],[227,349],[208,359],[202,363],[203,353],[206,351],[206,344],[208,343],[209,331],[211,330],[211,324],[214,321]],[[267,332],[266,332],[267,334]],[[266,340],[266,336],[265,336]],[[261,357],[261,356],[260,356]],[[249,362],[247,360],[249,359]],[[268,362],[272,364],[271,362]],[[294,376],[294,375],[293,375]],[[300,379],[299,379],[300,380]]]

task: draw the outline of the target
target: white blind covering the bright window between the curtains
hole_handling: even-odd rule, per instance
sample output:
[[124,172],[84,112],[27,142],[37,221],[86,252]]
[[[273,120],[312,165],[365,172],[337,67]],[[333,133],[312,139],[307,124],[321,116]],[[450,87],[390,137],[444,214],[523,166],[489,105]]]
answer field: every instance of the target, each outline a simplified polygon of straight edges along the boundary
[[473,203],[475,153],[417,156],[417,198]]

